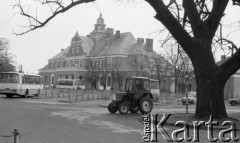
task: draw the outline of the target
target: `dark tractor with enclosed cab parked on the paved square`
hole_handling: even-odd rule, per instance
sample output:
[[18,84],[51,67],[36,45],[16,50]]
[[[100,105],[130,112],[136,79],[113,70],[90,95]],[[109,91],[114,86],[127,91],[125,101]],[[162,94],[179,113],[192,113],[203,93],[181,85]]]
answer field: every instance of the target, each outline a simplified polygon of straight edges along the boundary
[[148,114],[153,109],[153,95],[150,92],[150,79],[147,77],[129,77],[125,81],[124,92],[112,95],[112,102],[108,105],[110,113]]

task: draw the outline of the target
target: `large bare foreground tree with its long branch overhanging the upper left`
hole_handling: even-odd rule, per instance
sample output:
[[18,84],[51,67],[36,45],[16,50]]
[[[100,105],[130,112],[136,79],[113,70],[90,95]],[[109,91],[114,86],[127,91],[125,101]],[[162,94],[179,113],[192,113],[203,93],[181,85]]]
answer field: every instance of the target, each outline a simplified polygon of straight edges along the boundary
[[[43,21],[24,10],[19,2],[15,7],[20,14],[29,19],[27,33],[45,26],[56,15],[72,7],[95,0],[37,0],[41,5],[50,7],[52,14]],[[181,45],[194,66],[197,83],[197,117],[227,117],[223,89],[226,81],[240,68],[239,48],[222,65],[217,65],[212,53],[212,43],[225,9],[230,0],[145,0],[155,10],[155,18],[171,33]],[[239,6],[240,0],[232,0]],[[37,10],[36,10],[37,11]],[[38,12],[34,12],[38,14]]]

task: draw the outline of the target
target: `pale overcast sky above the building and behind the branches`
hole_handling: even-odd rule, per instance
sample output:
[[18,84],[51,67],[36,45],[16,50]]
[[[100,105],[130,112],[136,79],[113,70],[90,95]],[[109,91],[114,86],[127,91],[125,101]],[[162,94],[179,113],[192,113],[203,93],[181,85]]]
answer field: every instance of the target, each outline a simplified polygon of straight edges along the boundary
[[[16,11],[10,6],[12,1],[15,0],[0,0],[0,37],[10,40],[10,52],[16,56],[17,65],[23,65],[23,70],[28,73],[38,73],[48,59],[69,46],[76,31],[82,36],[88,35],[94,29],[100,12],[107,27],[132,32],[135,38],[153,38],[154,49],[159,49],[156,32],[162,25],[154,19],[155,12],[143,0],[134,0],[134,3],[131,0],[125,0],[124,3],[118,0],[97,0],[94,4],[79,5],[58,15],[44,28],[23,36],[13,34],[13,30],[21,31],[17,24],[23,25],[24,20],[14,16]],[[235,15],[231,14],[236,10]],[[226,22],[239,20],[239,7],[227,11],[230,14],[225,16]],[[233,36],[239,37],[238,35],[235,33]]]

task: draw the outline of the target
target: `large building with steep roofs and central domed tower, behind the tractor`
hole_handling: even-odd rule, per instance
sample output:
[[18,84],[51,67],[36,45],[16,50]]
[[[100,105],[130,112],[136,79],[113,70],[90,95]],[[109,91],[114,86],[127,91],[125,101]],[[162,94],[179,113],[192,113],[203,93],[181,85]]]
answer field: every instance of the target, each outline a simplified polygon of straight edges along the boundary
[[[145,59],[153,53],[153,39],[136,40],[131,32],[114,32],[114,29],[106,28],[100,14],[90,35],[80,36],[76,32],[71,44],[50,58],[39,74],[45,85],[54,86],[58,79],[80,79],[91,88],[91,78],[94,80],[96,76],[93,72],[98,72],[95,88],[103,89],[101,77],[107,73],[106,89],[110,89],[117,83],[113,76],[118,71],[125,76],[146,75],[148,64]],[[137,60],[135,64],[134,58]]]

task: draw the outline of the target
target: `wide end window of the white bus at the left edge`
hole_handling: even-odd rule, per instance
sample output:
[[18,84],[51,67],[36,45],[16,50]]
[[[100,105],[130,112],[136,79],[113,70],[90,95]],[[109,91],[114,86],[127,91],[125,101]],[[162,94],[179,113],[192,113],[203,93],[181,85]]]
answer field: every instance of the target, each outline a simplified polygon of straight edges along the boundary
[[0,83],[19,83],[19,74],[0,73]]

